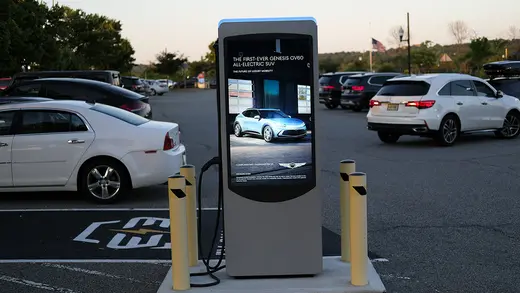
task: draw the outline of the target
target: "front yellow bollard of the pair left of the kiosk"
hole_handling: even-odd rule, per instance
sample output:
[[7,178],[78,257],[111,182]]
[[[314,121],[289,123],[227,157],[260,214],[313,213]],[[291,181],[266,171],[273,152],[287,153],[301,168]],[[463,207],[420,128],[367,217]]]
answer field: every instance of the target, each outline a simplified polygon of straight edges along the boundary
[[174,175],[168,178],[168,198],[170,201],[173,290],[183,291],[190,289],[186,178],[184,176]]

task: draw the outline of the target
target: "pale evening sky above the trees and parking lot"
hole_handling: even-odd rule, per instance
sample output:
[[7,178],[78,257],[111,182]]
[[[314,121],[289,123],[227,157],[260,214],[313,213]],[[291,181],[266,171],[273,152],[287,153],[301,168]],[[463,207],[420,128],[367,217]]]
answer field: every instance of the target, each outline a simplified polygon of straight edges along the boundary
[[[410,40],[454,43],[448,24],[464,21],[479,36],[508,37],[508,28],[520,28],[519,0],[56,0],[60,5],[120,20],[122,34],[136,51],[137,63],[147,64],[165,49],[189,60],[200,59],[217,38],[224,18],[312,16],[318,23],[318,51],[365,51],[371,38],[387,48],[390,31],[406,30],[410,13]],[[46,0],[51,5],[52,0]],[[495,4],[497,3],[497,4]],[[519,34],[520,35],[520,34]]]

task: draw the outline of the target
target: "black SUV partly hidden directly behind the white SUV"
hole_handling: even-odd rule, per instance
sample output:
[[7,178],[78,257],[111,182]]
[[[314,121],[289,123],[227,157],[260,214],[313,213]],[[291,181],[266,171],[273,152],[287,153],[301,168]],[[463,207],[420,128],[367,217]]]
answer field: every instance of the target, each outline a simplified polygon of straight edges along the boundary
[[404,76],[395,72],[362,73],[351,75],[343,83],[341,108],[359,112],[368,109],[370,99],[374,97],[383,84],[394,77]]

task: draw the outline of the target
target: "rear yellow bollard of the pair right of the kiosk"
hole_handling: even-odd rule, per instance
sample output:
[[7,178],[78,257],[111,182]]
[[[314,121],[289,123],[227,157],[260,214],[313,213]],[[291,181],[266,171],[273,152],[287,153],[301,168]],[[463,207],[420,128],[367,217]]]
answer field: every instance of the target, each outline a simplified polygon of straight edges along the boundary
[[350,261],[349,176],[356,172],[356,161],[343,160],[339,165],[339,206],[341,218],[341,261]]

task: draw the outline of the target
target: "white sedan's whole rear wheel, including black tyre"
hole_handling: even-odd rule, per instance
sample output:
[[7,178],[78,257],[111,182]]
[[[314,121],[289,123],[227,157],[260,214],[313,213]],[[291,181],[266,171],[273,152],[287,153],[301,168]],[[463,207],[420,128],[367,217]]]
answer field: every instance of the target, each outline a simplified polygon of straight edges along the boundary
[[79,192],[99,203],[113,203],[130,190],[130,176],[114,160],[95,160],[81,168]]

